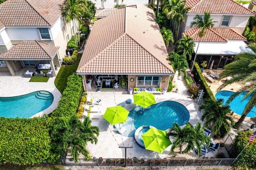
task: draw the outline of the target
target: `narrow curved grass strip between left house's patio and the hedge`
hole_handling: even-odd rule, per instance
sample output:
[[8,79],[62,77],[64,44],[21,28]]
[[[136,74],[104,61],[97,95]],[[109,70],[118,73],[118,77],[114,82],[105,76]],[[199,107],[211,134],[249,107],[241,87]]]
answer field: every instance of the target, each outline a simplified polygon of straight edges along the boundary
[[60,71],[57,74],[57,77],[55,78],[54,84],[56,88],[61,92],[61,94],[67,86],[67,79],[69,75],[76,72],[81,56],[82,54],[77,55],[77,61],[75,64],[62,66],[60,68]]

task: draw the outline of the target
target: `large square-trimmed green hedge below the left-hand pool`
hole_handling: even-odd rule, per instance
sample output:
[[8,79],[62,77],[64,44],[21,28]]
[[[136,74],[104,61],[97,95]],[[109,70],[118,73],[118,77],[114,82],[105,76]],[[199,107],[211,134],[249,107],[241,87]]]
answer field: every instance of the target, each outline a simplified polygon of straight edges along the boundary
[[34,165],[51,157],[45,118],[0,117],[0,164]]

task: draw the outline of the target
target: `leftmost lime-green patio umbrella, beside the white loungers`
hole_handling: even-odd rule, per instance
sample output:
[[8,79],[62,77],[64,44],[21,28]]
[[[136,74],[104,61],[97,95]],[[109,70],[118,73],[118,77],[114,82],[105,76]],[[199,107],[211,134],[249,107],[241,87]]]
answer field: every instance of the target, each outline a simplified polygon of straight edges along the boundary
[[113,125],[117,123],[124,123],[128,115],[129,111],[122,106],[114,106],[107,108],[103,118]]

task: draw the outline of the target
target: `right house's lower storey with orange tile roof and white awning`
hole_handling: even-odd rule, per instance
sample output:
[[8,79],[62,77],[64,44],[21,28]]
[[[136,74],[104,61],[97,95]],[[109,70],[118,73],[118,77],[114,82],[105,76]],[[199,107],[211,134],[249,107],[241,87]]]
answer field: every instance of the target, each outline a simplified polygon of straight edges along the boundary
[[188,35],[194,39],[196,44],[194,47],[195,52],[199,45],[196,62],[201,64],[206,61],[206,69],[210,69],[212,63],[212,69],[223,69],[226,64],[234,61],[234,56],[236,54],[243,52],[253,53],[245,43],[246,38],[233,29],[207,29],[205,36],[201,38],[200,43],[198,43],[198,33],[199,29],[194,28],[183,32],[183,35]]

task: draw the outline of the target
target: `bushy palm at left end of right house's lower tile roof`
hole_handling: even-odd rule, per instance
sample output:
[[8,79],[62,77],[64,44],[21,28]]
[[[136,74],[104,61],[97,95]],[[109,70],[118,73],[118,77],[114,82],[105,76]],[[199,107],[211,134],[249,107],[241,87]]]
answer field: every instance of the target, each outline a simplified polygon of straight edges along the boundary
[[192,54],[194,53],[195,43],[193,38],[185,35],[181,37],[176,46],[176,51],[179,54],[183,54],[191,60]]

